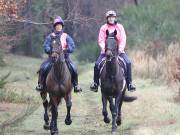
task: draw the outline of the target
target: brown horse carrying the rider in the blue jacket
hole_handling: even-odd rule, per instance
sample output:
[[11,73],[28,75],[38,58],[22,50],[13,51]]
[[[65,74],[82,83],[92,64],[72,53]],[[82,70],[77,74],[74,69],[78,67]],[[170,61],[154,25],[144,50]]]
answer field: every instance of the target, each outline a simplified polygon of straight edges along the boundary
[[[41,97],[43,99],[44,106],[44,128],[48,129],[50,127],[51,135],[58,135],[57,128],[57,117],[58,117],[58,105],[61,99],[64,98],[66,101],[67,115],[65,119],[65,124],[70,125],[71,120],[71,74],[66,65],[64,53],[62,50],[62,45],[60,43],[59,37],[54,37],[52,41],[52,59],[53,65],[50,72],[47,75],[46,87],[43,92],[41,92]],[[50,101],[47,99],[47,94],[49,94]],[[49,116],[48,116],[48,106],[51,108],[51,123],[49,126]]]

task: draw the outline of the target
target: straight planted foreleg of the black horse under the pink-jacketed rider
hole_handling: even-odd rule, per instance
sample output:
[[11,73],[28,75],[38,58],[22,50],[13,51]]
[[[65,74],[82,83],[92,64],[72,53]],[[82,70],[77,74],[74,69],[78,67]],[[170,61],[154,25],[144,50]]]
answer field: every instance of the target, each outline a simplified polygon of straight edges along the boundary
[[110,110],[112,114],[112,132],[115,132],[117,129],[117,125],[116,125],[117,110],[113,102],[113,97],[110,97],[108,100],[110,103]]

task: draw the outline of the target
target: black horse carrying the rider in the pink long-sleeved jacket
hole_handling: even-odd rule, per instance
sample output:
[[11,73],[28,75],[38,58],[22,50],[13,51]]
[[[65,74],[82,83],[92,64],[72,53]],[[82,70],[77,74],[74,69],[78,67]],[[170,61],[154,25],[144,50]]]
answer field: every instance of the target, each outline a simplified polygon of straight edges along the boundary
[[106,61],[100,75],[103,103],[102,114],[104,122],[109,123],[110,119],[107,112],[107,101],[109,101],[112,114],[112,132],[115,132],[117,125],[121,124],[121,106],[126,91],[126,81],[124,69],[118,63],[117,31],[115,30],[110,34],[106,31],[106,34]]

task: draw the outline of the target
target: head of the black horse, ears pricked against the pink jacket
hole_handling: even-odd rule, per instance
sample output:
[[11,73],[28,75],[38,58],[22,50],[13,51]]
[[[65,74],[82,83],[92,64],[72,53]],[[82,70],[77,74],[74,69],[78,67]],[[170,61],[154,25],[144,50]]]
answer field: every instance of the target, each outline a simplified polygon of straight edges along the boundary
[[109,33],[108,30],[106,30],[106,42],[105,42],[105,54],[107,57],[107,60],[111,60],[113,57],[117,56],[118,54],[118,45],[117,45],[117,30],[115,30],[112,33]]

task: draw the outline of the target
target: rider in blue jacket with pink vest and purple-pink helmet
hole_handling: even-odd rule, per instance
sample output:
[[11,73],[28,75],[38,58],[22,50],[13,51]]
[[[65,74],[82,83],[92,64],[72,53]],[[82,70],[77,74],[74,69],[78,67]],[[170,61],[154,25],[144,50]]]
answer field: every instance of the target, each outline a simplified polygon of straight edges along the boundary
[[82,91],[82,89],[78,86],[78,74],[77,74],[77,70],[73,64],[73,62],[71,61],[69,54],[72,53],[75,49],[75,43],[73,41],[73,39],[67,34],[63,32],[63,27],[64,27],[64,21],[60,16],[57,16],[54,19],[54,23],[53,23],[53,32],[51,34],[49,34],[43,44],[43,48],[46,54],[48,54],[48,59],[45,60],[40,67],[39,70],[39,80],[38,80],[38,86],[36,87],[37,91],[43,91],[44,87],[45,87],[45,81],[46,81],[46,77],[48,72],[50,71],[51,67],[52,67],[52,39],[54,37],[58,37],[60,39],[62,48],[63,48],[63,52],[64,52],[64,56],[65,56],[65,61],[67,63],[67,66],[70,70],[71,76],[72,76],[72,83],[74,86],[74,92],[80,92]]

